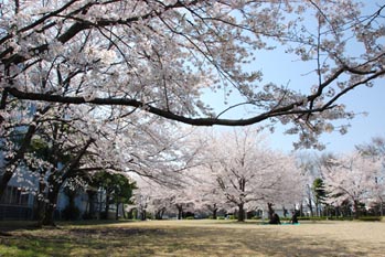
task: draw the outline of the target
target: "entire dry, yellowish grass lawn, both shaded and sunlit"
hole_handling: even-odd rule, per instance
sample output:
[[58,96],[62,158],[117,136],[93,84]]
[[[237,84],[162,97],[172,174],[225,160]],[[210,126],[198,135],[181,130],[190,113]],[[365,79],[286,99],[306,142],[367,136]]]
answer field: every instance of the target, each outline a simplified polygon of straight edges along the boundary
[[385,256],[384,222],[300,225],[233,221],[0,222],[0,256]]

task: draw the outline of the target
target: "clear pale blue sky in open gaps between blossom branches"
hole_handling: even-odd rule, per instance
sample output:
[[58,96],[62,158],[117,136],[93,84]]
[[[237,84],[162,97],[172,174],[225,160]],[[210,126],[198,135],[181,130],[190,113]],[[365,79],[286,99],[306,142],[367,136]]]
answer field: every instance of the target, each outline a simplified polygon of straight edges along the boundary
[[[354,51],[354,49],[352,50]],[[289,85],[289,88],[298,88],[302,93],[308,93],[310,86],[317,83],[314,73],[311,73],[314,69],[314,65],[297,62],[295,58],[293,55],[285,54],[284,50],[277,49],[272,52],[257,53],[256,62],[253,63],[252,67],[253,69],[260,68],[264,73],[261,84],[272,82],[278,85]],[[223,105],[225,99],[221,94],[214,100],[212,95],[204,98],[211,100],[213,107],[216,107],[218,110],[217,113],[228,107]],[[234,100],[236,103],[236,97]],[[232,100],[229,99],[229,101]],[[372,88],[362,86],[354,89],[338,103],[344,104],[346,110],[356,114],[366,111],[367,116],[357,115],[353,120],[343,120],[342,124],[351,125],[349,132],[345,135],[341,135],[338,131],[324,133],[321,137],[321,141],[327,146],[325,151],[347,152],[354,150],[356,144],[370,142],[372,137],[385,137],[385,78],[376,81]],[[221,118],[239,117],[247,117],[242,108],[231,111]],[[272,148],[290,151],[293,149],[292,142],[297,140],[297,136],[284,135],[282,131],[284,129],[278,126],[277,131],[270,136]]]

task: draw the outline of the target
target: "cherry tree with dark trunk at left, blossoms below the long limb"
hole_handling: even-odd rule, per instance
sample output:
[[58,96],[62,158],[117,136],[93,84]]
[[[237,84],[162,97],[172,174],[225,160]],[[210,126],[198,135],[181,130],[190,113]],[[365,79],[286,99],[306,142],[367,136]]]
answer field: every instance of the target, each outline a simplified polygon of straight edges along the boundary
[[[170,173],[183,169],[194,154],[185,143],[183,149],[180,147],[188,130],[178,131],[174,126],[160,122],[159,118],[133,122],[136,114],[130,116],[130,120],[126,118],[121,121],[116,119],[119,117],[116,113],[118,111],[94,113],[93,108],[78,106],[50,106],[44,115],[38,113],[26,116],[25,120],[30,125],[25,121],[28,126],[24,127],[28,131],[24,131],[23,124],[17,126],[22,128],[22,154],[11,154],[12,151],[21,152],[21,147],[8,150],[15,162],[7,163],[12,170],[6,173],[9,176],[2,176],[4,186],[1,189],[14,175],[23,181],[28,179],[29,172],[38,175],[38,188],[32,185],[28,191],[35,193],[39,203],[42,203],[39,205],[40,224],[53,225],[58,193],[68,180],[82,181],[84,176],[92,176],[95,172],[108,171],[133,172],[172,183]],[[101,115],[106,118],[99,118]],[[95,116],[95,119],[90,119]],[[35,121],[36,117],[39,122]],[[31,127],[33,132],[29,135]],[[13,133],[12,130],[9,132],[12,136]],[[25,135],[29,137],[28,142]],[[43,144],[40,149],[31,149],[31,143],[36,140]],[[36,156],[39,151],[44,151],[44,154]],[[15,172],[17,170],[20,172]]]

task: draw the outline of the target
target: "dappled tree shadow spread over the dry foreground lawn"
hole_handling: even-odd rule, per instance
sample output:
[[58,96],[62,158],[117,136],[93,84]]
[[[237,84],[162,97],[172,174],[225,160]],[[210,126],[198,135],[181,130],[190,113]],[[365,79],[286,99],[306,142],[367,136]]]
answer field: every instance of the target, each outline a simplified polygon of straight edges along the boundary
[[292,237],[278,227],[255,229],[250,224],[247,228],[103,224],[11,231],[11,236],[0,236],[0,256],[382,256],[385,250],[374,244],[351,247],[327,237]]

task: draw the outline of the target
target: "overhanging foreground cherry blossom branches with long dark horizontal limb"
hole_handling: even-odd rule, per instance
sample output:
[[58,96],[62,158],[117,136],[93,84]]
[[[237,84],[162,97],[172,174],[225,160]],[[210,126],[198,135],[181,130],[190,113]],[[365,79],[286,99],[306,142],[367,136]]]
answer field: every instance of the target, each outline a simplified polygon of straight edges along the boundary
[[[353,116],[341,97],[385,74],[385,6],[368,12],[364,2],[3,0],[1,126],[14,101],[119,106],[122,117],[196,126],[291,124],[297,147],[322,148],[318,136],[336,129],[330,120]],[[313,82],[264,82],[258,53],[276,46],[306,63]],[[215,114],[204,92],[240,100]],[[240,106],[252,115],[222,118]]]

